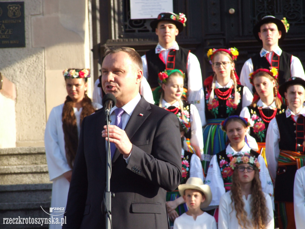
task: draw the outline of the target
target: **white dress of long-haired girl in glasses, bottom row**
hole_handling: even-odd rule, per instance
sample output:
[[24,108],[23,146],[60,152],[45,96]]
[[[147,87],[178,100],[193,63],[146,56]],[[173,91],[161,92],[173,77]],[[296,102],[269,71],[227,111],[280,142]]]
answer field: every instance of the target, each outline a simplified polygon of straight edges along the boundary
[[[268,194],[264,193],[266,198],[268,213],[268,224],[265,229],[274,229],[274,218],[273,218],[273,209],[272,209],[272,201]],[[248,198],[243,195],[242,199],[245,203],[245,210],[248,215],[248,219],[252,219],[251,214],[251,195],[248,195]],[[238,220],[236,218],[236,211],[232,209],[231,206],[231,191],[226,192],[221,196],[219,203],[219,215],[218,215],[218,229],[241,229],[242,227],[238,224]],[[234,204],[233,204],[234,206]],[[252,226],[252,225],[251,225]],[[248,227],[252,229],[253,227]]]

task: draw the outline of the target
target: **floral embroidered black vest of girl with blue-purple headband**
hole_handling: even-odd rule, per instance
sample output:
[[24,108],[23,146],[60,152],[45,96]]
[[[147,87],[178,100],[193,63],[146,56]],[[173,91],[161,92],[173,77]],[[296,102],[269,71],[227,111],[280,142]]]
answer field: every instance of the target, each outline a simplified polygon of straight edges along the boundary
[[[250,150],[251,156],[255,156],[258,158],[258,153]],[[242,156],[242,155],[235,155],[235,156]],[[216,154],[218,166],[221,171],[222,179],[224,180],[224,188],[227,191],[231,190],[232,186],[232,175],[233,175],[233,169],[229,166],[230,164],[230,158],[228,158],[228,155],[226,154],[226,150],[220,151]],[[222,161],[222,162],[221,162]],[[227,163],[225,163],[225,162]]]

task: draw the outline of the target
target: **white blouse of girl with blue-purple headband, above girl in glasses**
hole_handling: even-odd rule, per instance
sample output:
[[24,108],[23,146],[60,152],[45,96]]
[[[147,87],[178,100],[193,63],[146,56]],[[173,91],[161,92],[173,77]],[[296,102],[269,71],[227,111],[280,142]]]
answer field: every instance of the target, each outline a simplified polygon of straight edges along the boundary
[[[247,144],[244,145],[241,151],[235,151],[230,144],[226,148],[226,153],[232,154],[232,156],[236,155],[244,155],[245,153],[250,152],[250,148]],[[272,205],[273,205],[273,184],[271,181],[271,177],[266,167],[266,163],[264,158],[259,155],[258,162],[260,163],[260,182],[262,185],[262,191],[268,193],[272,197]],[[221,175],[220,167],[217,161],[217,154],[213,156],[208,172],[206,174],[205,184],[208,184],[211,188],[212,195],[212,202],[210,206],[217,206],[219,205],[219,201],[221,196],[225,193],[224,188],[224,180]]]

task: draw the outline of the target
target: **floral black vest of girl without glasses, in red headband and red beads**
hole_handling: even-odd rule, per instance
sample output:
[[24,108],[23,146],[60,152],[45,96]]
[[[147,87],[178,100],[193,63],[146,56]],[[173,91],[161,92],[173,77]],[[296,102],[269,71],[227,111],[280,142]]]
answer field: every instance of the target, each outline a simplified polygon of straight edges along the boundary
[[[277,109],[276,114],[278,115],[279,113],[282,113],[282,112],[285,113],[285,109],[286,109],[286,106],[282,104],[281,109]],[[269,122],[265,122],[262,119],[257,107],[254,108],[254,107],[248,106],[248,110],[249,110],[252,120],[254,119],[254,125],[253,125],[253,127],[252,126],[250,127],[250,135],[255,138],[256,142],[266,142],[266,134],[267,134]],[[262,109],[262,112],[267,117],[271,117],[274,114],[274,110],[269,109],[269,108]],[[258,118],[256,116],[258,116]],[[257,118],[257,119],[255,119],[255,118]],[[266,119],[266,120],[271,121],[271,119]]]

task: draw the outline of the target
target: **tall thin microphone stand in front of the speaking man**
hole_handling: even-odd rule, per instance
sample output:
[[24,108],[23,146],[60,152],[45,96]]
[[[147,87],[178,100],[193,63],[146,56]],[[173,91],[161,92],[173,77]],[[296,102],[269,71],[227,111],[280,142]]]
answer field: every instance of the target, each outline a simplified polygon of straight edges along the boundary
[[110,192],[110,176],[111,176],[111,154],[110,154],[110,141],[109,141],[109,129],[108,125],[111,123],[109,111],[106,113],[106,125],[107,125],[107,136],[108,136],[108,147],[107,147],[107,164],[106,164],[106,192],[104,193],[104,205],[105,205],[105,217],[106,217],[106,229],[111,229],[111,192]]

